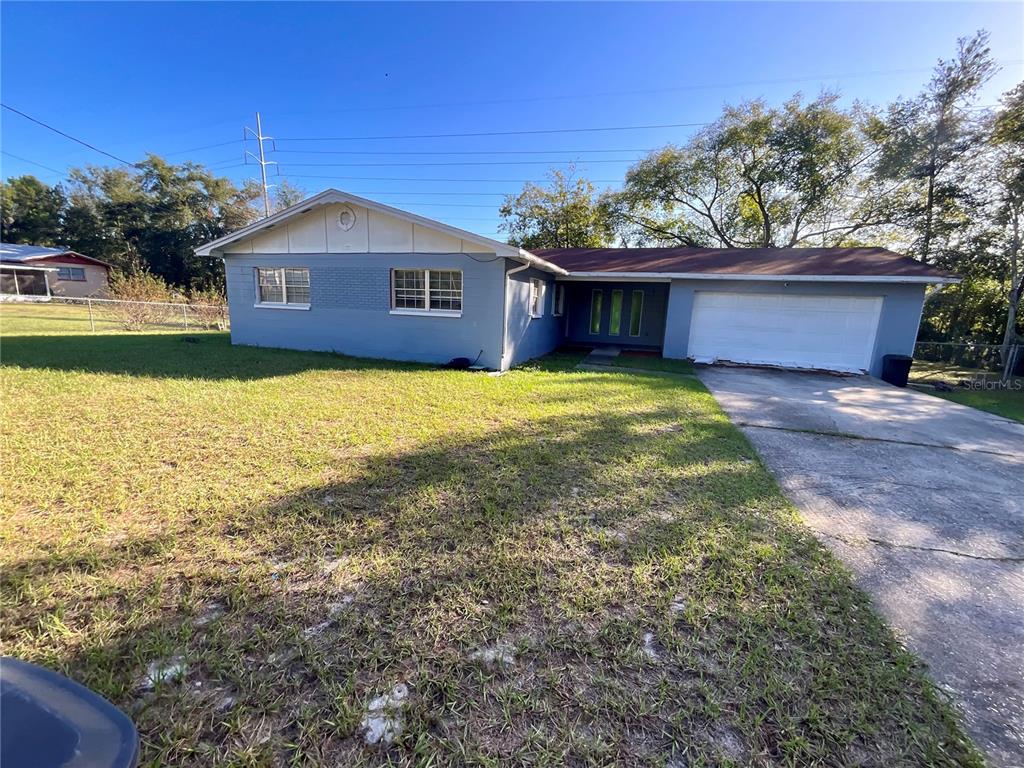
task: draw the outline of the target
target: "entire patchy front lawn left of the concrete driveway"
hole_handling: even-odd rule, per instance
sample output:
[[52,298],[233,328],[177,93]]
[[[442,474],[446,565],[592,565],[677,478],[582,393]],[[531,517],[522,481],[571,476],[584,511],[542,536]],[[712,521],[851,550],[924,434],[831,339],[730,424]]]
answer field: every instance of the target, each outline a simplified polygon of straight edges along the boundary
[[980,765],[695,380],[0,354],[3,652],[142,765]]

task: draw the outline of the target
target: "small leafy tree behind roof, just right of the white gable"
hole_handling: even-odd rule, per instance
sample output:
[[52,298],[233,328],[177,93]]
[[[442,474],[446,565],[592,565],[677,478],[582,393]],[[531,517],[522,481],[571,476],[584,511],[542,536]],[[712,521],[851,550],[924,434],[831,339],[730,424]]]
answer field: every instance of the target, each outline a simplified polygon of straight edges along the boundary
[[546,185],[526,184],[499,211],[509,243],[522,248],[600,248],[611,241],[608,211],[594,185],[568,171],[549,173]]

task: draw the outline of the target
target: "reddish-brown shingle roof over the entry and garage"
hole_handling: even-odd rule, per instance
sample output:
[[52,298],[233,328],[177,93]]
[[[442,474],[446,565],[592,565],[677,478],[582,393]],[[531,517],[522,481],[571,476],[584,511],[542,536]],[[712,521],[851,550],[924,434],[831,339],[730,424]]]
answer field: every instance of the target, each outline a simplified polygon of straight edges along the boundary
[[954,278],[885,248],[545,248],[570,272]]

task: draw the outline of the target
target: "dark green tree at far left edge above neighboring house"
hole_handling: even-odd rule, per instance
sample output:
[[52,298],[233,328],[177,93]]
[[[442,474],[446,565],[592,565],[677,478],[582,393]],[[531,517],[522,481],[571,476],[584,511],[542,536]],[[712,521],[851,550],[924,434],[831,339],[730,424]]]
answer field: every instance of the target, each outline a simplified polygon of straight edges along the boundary
[[0,183],[0,240],[56,245],[66,204],[59,186],[49,186],[35,176],[18,176]]

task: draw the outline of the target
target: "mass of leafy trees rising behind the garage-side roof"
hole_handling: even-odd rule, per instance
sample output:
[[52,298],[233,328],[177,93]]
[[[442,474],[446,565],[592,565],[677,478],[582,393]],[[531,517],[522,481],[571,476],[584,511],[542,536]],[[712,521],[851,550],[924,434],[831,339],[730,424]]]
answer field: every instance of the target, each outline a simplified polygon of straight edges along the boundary
[[1009,343],[1024,291],[1024,85],[979,108],[995,69],[979,32],[920,94],[883,108],[833,92],[728,105],[618,190],[557,172],[525,185],[501,208],[505,227],[527,248],[884,246],[964,278],[930,295],[924,337]]

